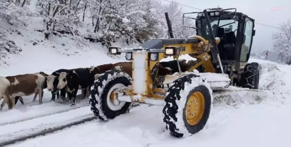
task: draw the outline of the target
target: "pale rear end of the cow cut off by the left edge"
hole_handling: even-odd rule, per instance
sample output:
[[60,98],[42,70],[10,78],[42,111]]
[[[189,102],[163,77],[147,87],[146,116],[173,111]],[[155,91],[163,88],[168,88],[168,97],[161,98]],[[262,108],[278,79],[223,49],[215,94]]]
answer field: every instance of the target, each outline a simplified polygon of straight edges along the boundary
[[[12,104],[11,98],[9,97],[9,90],[10,90],[10,82],[9,82],[9,80],[6,79],[5,77],[1,77],[0,76],[0,100],[2,98],[4,98],[3,102],[5,104],[6,103],[8,104],[8,109],[12,109],[13,104]],[[3,107],[2,107],[2,104],[1,104],[0,110],[2,110],[2,109],[3,109]]]

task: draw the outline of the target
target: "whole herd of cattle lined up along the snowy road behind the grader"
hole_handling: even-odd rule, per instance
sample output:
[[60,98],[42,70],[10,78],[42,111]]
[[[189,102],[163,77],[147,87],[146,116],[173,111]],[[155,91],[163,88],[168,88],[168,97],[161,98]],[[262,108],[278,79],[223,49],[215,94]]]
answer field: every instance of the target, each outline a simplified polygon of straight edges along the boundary
[[[182,72],[188,70],[195,64],[195,61],[179,60],[180,69]],[[95,79],[100,74],[107,70],[122,70],[132,76],[132,62],[118,62],[114,64],[104,64],[99,66],[92,66],[77,69],[59,69],[48,75],[44,72],[34,74],[21,74],[15,76],[1,77],[0,76],[0,100],[2,101],[0,110],[3,109],[7,103],[8,109],[15,107],[18,100],[24,104],[22,96],[29,96],[34,94],[33,101],[39,95],[39,104],[42,104],[43,89],[51,92],[51,100],[55,100],[55,96],[60,98],[61,103],[64,102],[66,94],[69,100],[72,100],[72,106],[75,105],[75,98],[77,91],[81,89],[82,99],[89,97],[90,87]],[[176,60],[168,62],[160,62],[158,65],[159,75],[168,75],[179,72]]]

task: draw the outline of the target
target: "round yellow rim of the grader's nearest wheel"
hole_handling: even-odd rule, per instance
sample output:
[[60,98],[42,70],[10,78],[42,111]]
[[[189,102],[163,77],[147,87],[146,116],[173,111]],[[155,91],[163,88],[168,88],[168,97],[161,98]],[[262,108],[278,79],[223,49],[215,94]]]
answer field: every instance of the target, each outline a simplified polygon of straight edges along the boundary
[[204,114],[205,99],[200,91],[191,94],[186,105],[186,119],[190,126],[197,125]]

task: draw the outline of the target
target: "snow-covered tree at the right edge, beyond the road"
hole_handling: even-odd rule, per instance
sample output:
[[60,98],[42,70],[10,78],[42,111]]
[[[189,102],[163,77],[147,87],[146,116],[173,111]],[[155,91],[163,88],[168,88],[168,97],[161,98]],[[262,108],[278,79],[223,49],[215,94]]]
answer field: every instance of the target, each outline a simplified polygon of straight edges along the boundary
[[279,62],[291,63],[291,22],[283,22],[279,32],[273,34],[273,51],[279,55]]

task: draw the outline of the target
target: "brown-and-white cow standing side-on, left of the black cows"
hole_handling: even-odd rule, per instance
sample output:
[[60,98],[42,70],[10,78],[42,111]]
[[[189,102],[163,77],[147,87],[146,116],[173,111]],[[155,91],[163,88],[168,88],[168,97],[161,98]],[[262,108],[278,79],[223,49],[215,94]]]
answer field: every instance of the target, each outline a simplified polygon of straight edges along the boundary
[[[46,88],[46,77],[40,73],[35,74],[21,74],[16,76],[8,76],[6,79],[10,82],[9,97],[15,106],[16,96],[29,96],[35,94],[33,101],[35,101],[37,94],[39,95],[39,104],[42,104],[43,89]],[[1,108],[6,102],[2,102]]]

